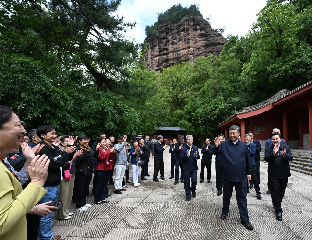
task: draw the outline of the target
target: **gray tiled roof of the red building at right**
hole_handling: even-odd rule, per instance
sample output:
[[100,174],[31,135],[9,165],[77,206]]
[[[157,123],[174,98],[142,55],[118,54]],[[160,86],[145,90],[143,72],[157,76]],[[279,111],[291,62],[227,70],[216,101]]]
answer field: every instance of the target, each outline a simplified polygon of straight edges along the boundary
[[278,93],[276,93],[274,96],[270,97],[269,99],[261,102],[261,103],[258,103],[258,104],[255,104],[255,105],[252,105],[252,106],[249,106],[249,107],[243,107],[242,108],[242,111],[241,112],[237,112],[237,113],[234,113],[233,115],[229,116],[226,120],[224,120],[222,123],[220,123],[218,126],[222,125],[223,123],[225,123],[227,120],[231,119],[233,116],[237,115],[237,114],[241,114],[241,113],[246,113],[246,112],[251,112],[251,111],[254,111],[254,110],[257,110],[257,109],[260,109],[262,107],[265,107],[271,103],[274,103],[282,98],[284,98],[285,96],[288,96],[290,95],[291,93],[293,92],[297,92],[298,90],[300,90],[301,88],[304,88],[306,86],[309,86],[310,84],[312,84],[312,81],[309,81],[309,82],[306,82],[305,84],[295,88],[294,90],[292,91],[289,91],[287,89],[282,89],[280,90]]

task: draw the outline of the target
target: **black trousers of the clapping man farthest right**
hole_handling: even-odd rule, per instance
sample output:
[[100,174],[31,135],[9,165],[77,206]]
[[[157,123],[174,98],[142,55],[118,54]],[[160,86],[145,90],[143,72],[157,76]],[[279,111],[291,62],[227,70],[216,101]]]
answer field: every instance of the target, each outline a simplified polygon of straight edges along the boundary
[[273,207],[275,209],[275,213],[282,213],[283,210],[280,204],[285,194],[288,177],[283,177],[283,178],[269,177],[269,181],[270,181],[270,186],[271,186],[271,198],[272,198]]

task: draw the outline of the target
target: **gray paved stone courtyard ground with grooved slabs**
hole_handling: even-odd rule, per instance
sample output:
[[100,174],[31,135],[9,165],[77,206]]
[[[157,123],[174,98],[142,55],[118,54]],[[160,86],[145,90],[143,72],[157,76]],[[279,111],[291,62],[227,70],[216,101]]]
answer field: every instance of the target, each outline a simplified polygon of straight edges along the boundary
[[[282,202],[283,221],[279,222],[275,219],[271,195],[266,194],[267,165],[261,162],[262,200],[256,198],[254,189],[247,196],[249,218],[254,226],[253,231],[248,231],[240,223],[235,190],[227,219],[220,219],[222,195],[217,196],[214,158],[211,183],[206,179],[199,182],[198,161],[197,197],[186,202],[183,184],[173,185],[174,178],[169,179],[168,150],[164,156],[165,180],[153,181],[154,161],[150,158],[151,176],[146,177],[147,181],[139,180],[139,187],[127,184],[127,191],[120,195],[112,193],[108,204],[95,205],[90,195],[87,203],[93,206],[80,213],[72,205],[75,214],[71,219],[53,219],[53,233],[66,240],[312,239],[312,176],[291,171]],[[112,188],[110,185],[110,192]]]

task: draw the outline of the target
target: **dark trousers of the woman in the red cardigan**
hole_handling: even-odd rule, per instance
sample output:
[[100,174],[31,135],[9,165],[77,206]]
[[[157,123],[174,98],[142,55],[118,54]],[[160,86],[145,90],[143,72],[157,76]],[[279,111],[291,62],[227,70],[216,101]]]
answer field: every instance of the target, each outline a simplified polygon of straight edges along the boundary
[[99,202],[101,200],[105,200],[106,198],[106,190],[108,181],[110,180],[110,173],[113,171],[111,170],[100,170],[97,171],[97,181],[95,184],[95,194],[94,194],[94,201]]

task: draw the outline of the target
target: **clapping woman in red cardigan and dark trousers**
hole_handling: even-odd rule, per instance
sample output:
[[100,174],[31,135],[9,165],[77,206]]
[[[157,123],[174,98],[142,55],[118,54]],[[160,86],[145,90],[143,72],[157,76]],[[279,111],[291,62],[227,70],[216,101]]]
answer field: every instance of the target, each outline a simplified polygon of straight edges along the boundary
[[110,148],[110,139],[100,138],[95,149],[94,157],[97,158],[96,164],[97,181],[95,183],[95,204],[108,203],[106,200],[106,189],[110,179],[110,174],[113,171],[114,161],[113,158],[117,155],[114,148]]

